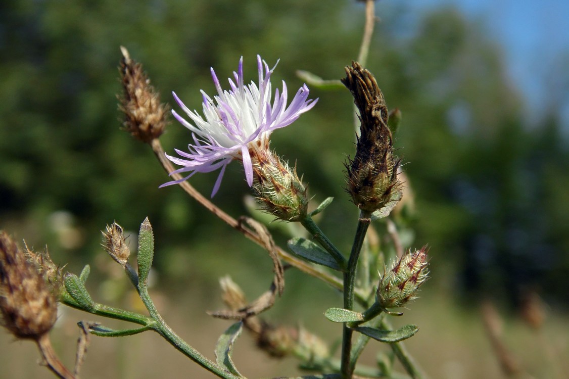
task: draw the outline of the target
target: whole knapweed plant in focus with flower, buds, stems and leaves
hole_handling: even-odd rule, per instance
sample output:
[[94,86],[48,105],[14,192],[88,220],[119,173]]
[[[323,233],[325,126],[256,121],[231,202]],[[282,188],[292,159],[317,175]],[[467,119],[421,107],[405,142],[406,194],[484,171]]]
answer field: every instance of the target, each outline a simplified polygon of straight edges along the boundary
[[[123,337],[146,331],[159,333],[179,352],[218,377],[244,378],[232,360],[234,342],[243,329],[269,355],[295,356],[300,368],[311,373],[310,377],[424,377],[402,344],[417,333],[417,326],[394,329],[390,324],[390,318],[402,315],[400,308],[416,297],[419,287],[426,281],[428,249],[423,246],[405,252],[397,232],[397,220],[391,217],[395,208],[402,206],[401,200],[407,191],[407,184],[402,179],[401,159],[393,148],[401,113],[397,109],[389,112],[376,79],[362,67],[373,29],[373,17],[369,17],[373,15],[373,1],[367,3],[368,28],[358,59],[360,63],[354,61],[345,67],[345,77],[341,81],[322,81],[310,73],[300,73],[311,85],[345,86],[352,93],[357,108],[356,152],[345,163],[345,190],[355,206],[353,220],[357,223],[351,251],[343,252],[337,248],[314,221],[315,215],[331,206],[332,198],[313,207],[302,175],[299,176],[296,168],[284,162],[270,147],[274,130],[294,127],[292,125],[303,113],[317,105],[318,99],[311,98],[306,84],[291,98],[284,82],[280,88],[273,89],[271,75],[277,64],[271,68],[260,56],[257,56],[257,83],[245,83],[243,58],[228,86],[222,84],[212,69],[217,93],[211,96],[201,92],[200,112],[188,108],[173,94],[177,106],[171,113],[188,129],[189,144],[174,149],[175,154],[166,154],[159,138],[167,125],[167,106],[160,103],[141,64],[135,63],[127,50],[121,48],[123,94],[120,109],[125,114],[124,129],[150,145],[171,176],[162,187],[180,186],[222,221],[267,250],[274,262],[273,283],[266,293],[248,302],[240,287],[229,277],[221,279],[222,298],[228,308],[211,312],[211,315],[233,322],[218,338],[216,360],[212,361],[180,338],[152,302],[147,285],[155,236],[148,219],[143,221],[138,234],[134,266],[122,227],[112,223],[103,232],[104,250],[122,266],[126,279],[146,307],[144,314],[98,303],[86,286],[89,265],[79,275],[65,272],[52,262],[47,250],[36,253],[26,246],[24,251],[2,232],[0,308],[3,325],[15,337],[35,341],[46,366],[56,376],[67,379],[79,376],[89,335]],[[249,217],[234,219],[189,184],[196,173],[219,171],[211,193],[213,198],[222,185],[225,168],[233,161],[242,164],[245,181],[253,192],[257,208],[269,213],[274,220],[302,225],[311,238],[292,238],[287,249],[283,249],[275,244],[265,225]],[[351,218],[351,215],[345,217],[346,220]],[[378,233],[372,223],[380,225],[377,229],[384,232]],[[366,238],[369,230],[373,232]],[[284,291],[286,267],[294,267],[343,291],[343,304],[322,310],[323,318],[343,326],[341,336],[336,339],[341,340],[339,352],[333,353],[328,346],[334,340],[325,341],[306,329],[274,326],[262,319],[262,312]],[[53,351],[48,334],[56,321],[58,301],[133,326],[111,329],[100,323],[80,322],[82,337],[77,347],[76,366],[67,369]],[[370,340],[385,343],[390,352],[378,356],[375,366],[360,365],[358,358]],[[393,370],[396,360],[401,362],[405,373]]]

